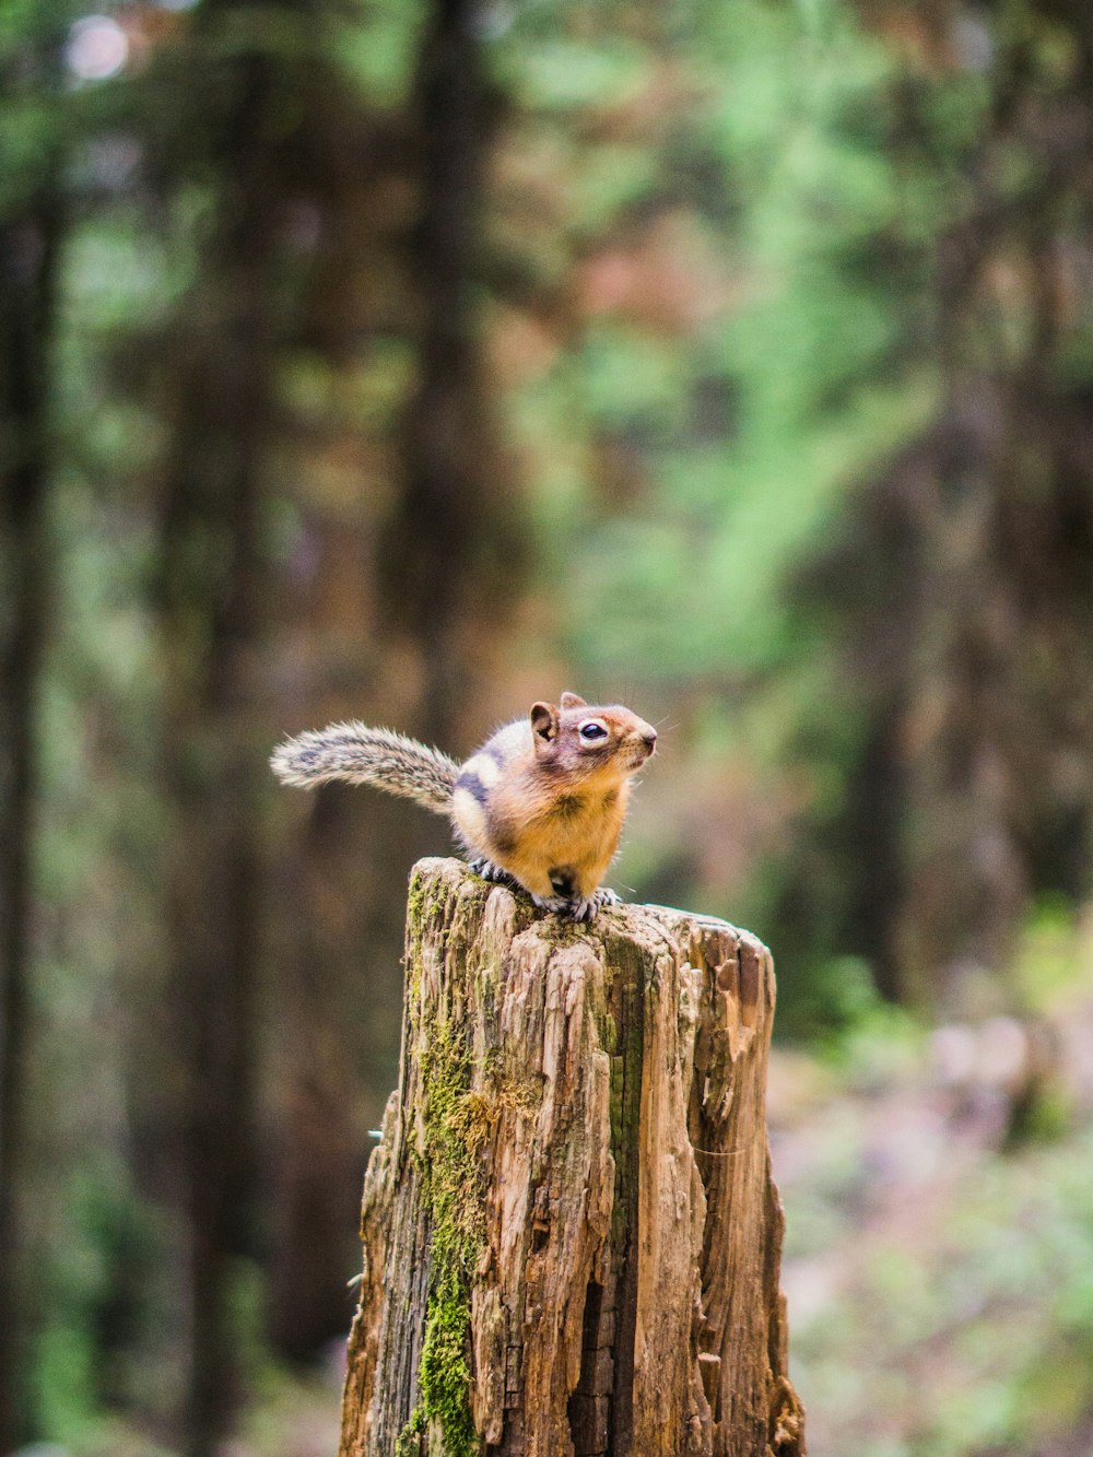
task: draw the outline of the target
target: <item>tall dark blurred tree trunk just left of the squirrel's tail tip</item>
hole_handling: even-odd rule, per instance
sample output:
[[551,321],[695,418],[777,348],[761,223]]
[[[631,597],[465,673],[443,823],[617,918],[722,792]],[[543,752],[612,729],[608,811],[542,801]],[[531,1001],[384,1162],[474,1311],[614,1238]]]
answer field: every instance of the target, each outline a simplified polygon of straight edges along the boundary
[[[229,32],[217,29],[233,15],[240,23],[243,9],[217,0],[200,10],[189,52],[219,103],[208,103],[207,122],[216,214],[176,326],[160,535],[163,877],[179,1096],[172,1152],[188,1225],[189,1457],[219,1453],[242,1405],[235,1278],[239,1262],[259,1252],[256,657],[268,603],[264,490],[286,203],[278,55],[229,48]],[[265,13],[273,23],[278,12],[270,3]]]

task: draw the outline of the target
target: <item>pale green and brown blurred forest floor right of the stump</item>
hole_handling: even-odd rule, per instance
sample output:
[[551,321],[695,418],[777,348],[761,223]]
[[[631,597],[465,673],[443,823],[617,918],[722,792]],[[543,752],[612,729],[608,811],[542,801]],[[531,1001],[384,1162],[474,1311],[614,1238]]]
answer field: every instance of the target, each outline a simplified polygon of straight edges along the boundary
[[1093,1453],[1093,1007],[775,1052],[813,1457]]

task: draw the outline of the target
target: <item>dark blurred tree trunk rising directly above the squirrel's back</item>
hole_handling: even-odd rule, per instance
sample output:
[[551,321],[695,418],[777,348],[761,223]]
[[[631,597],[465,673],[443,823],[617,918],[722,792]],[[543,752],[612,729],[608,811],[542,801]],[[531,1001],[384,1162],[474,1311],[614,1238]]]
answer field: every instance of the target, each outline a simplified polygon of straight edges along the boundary
[[[411,119],[420,192],[410,237],[415,388],[401,491],[379,552],[383,637],[417,664],[411,731],[453,743],[497,672],[528,543],[501,446],[482,337],[482,179],[497,99],[479,0],[430,0]],[[405,672],[405,669],[404,669]],[[484,685],[484,686],[482,686]]]

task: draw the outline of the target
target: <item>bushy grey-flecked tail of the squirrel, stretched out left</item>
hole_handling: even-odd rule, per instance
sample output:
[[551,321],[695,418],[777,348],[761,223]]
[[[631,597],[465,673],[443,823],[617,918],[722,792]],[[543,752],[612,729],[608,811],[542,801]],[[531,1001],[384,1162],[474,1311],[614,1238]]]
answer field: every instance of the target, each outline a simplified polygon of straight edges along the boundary
[[281,784],[302,790],[328,779],[375,784],[437,814],[450,810],[459,774],[455,759],[439,749],[389,728],[367,728],[359,723],[331,724],[289,739],[274,752],[270,766]]

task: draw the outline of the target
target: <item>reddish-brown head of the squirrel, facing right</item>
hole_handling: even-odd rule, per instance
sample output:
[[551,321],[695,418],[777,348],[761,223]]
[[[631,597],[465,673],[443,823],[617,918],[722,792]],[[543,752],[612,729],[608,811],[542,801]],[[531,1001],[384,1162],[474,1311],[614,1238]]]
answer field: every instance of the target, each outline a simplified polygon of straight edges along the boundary
[[590,707],[563,694],[557,705],[532,704],[530,718],[536,761],[580,778],[625,779],[656,749],[656,728],[621,704]]

